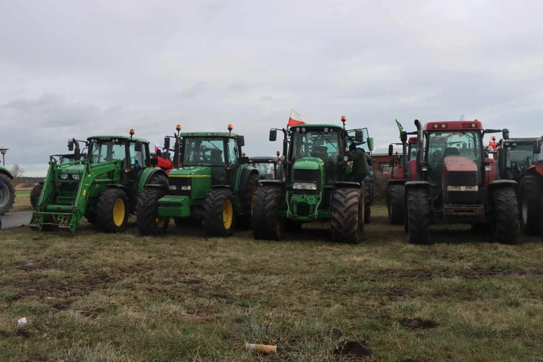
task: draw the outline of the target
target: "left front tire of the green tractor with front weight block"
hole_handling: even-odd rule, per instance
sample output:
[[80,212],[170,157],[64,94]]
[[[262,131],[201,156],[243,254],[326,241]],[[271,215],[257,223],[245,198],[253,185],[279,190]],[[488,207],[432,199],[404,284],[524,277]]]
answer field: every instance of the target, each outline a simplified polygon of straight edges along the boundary
[[159,217],[159,200],[168,190],[163,187],[146,187],[137,200],[136,224],[142,235],[163,235],[168,230],[168,217]]

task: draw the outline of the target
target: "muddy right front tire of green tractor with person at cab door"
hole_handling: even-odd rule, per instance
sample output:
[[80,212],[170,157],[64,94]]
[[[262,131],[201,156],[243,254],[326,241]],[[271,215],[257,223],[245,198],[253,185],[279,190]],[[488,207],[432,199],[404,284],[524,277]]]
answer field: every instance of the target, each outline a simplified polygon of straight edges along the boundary
[[332,241],[358,244],[364,239],[362,193],[359,188],[336,188],[332,194]]

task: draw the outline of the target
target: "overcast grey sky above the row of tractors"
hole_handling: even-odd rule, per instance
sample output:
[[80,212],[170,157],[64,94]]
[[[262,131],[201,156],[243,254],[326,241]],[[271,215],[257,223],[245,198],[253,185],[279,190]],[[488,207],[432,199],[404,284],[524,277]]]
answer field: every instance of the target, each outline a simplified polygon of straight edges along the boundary
[[0,0],[0,145],[42,176],[67,139],[184,131],[477,118],[543,134],[541,1]]

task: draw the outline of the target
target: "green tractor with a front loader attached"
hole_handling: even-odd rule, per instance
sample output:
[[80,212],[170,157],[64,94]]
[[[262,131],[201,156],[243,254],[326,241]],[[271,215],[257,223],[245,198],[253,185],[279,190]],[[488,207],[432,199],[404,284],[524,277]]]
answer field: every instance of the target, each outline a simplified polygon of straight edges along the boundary
[[149,157],[149,142],[133,135],[130,130],[130,137],[89,137],[83,159],[79,142],[71,140],[68,149],[74,151],[74,161],[49,162],[30,228],[74,232],[85,217],[105,232],[126,230],[143,186],[168,185],[166,173],[152,167],[156,161]]

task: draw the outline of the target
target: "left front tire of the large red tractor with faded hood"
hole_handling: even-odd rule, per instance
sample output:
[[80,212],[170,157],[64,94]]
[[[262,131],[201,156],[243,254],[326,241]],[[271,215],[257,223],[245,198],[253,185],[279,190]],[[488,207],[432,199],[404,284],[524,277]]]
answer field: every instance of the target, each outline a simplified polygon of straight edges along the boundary
[[407,192],[407,223],[409,243],[430,244],[430,209],[428,191],[424,188],[412,188]]

